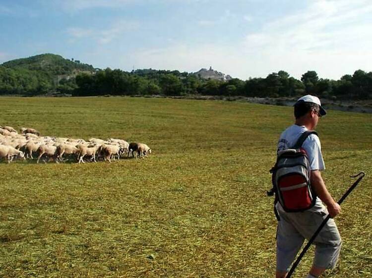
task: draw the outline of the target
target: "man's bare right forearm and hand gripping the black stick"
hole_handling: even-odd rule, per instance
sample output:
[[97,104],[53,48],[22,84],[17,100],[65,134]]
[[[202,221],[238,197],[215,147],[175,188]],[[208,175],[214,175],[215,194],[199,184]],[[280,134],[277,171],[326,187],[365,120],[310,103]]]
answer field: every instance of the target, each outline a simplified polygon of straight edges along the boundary
[[316,195],[318,195],[320,200],[322,200],[322,202],[327,206],[331,218],[339,214],[341,212],[341,207],[337,202],[335,202],[335,200],[333,200],[331,194],[329,194],[319,170],[313,170],[310,172],[310,183],[314,188]]

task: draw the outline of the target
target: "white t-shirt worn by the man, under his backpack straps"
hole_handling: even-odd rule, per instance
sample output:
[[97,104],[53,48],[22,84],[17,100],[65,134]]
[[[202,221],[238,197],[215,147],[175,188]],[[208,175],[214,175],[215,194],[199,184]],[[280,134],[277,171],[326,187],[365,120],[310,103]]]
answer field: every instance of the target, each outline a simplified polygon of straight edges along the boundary
[[[281,135],[278,141],[278,150],[285,150],[291,148],[296,143],[297,139],[300,138],[308,129],[305,126],[293,125],[287,128]],[[321,145],[319,138],[310,134],[310,136],[304,141],[302,147],[308,153],[308,158],[310,162],[310,170],[324,170],[324,160],[321,155]]]

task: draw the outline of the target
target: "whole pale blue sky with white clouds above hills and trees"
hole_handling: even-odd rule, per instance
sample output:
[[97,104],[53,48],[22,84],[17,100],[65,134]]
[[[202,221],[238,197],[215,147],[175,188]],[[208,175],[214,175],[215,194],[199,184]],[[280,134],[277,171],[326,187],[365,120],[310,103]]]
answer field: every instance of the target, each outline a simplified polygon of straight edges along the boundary
[[0,63],[214,69],[246,80],[372,71],[371,0],[0,0]]

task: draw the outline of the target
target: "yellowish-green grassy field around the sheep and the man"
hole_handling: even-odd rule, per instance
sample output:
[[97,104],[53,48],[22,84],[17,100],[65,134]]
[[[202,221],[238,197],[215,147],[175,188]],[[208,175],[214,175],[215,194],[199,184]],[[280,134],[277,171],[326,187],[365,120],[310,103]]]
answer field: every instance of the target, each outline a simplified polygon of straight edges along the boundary
[[[268,170],[292,107],[130,97],[0,98],[0,125],[42,135],[122,138],[147,159],[0,163],[0,277],[269,278],[276,219]],[[319,122],[344,240],[324,277],[372,277],[372,115]],[[294,277],[304,277],[311,249]]]

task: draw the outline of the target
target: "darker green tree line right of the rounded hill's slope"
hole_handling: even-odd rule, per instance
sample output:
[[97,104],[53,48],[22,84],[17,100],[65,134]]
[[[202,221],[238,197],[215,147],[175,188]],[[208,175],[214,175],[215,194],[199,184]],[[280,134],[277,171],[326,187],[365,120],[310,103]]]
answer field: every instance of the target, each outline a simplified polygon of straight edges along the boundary
[[372,95],[372,72],[357,70],[340,80],[319,78],[315,71],[304,73],[298,80],[285,71],[270,73],[266,78],[238,78],[229,81],[201,79],[186,72],[136,70],[125,72],[107,68],[94,75],[76,76],[75,95],[225,95],[248,97],[286,97],[305,93],[324,98],[367,99]]

